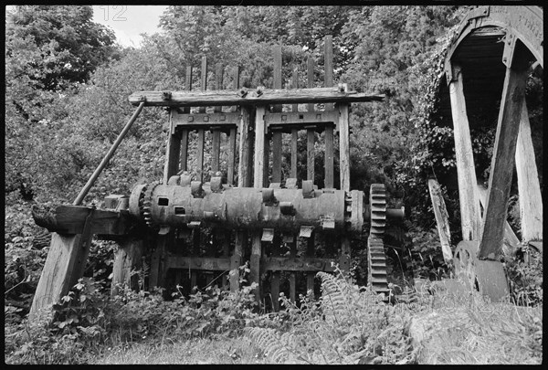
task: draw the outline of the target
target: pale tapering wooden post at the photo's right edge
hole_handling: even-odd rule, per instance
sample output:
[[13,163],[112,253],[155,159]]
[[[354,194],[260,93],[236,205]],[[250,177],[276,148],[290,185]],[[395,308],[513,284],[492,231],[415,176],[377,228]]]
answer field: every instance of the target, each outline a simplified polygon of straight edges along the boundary
[[516,144],[522,240],[543,240],[543,198],[532,147],[529,113],[525,101],[523,101],[522,107],[522,121]]

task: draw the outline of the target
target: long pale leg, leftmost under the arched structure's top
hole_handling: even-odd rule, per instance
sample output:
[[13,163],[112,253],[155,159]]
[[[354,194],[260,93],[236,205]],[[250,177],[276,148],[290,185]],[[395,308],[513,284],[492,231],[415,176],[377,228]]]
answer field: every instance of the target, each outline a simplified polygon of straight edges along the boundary
[[476,170],[470,140],[470,129],[466,111],[466,100],[462,86],[462,72],[458,65],[452,65],[453,80],[449,83],[451,115],[457,157],[458,199],[460,203],[460,224],[463,240],[479,238],[479,199],[476,189]]

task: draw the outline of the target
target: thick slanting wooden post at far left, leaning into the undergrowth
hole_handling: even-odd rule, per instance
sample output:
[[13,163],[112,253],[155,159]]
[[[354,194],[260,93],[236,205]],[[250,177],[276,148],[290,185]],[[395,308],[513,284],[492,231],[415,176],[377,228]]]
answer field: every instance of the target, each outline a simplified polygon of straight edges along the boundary
[[90,253],[92,227],[93,209],[90,209],[81,234],[52,233],[49,252],[38,280],[29,318],[37,317],[41,309],[57,303],[82,277]]

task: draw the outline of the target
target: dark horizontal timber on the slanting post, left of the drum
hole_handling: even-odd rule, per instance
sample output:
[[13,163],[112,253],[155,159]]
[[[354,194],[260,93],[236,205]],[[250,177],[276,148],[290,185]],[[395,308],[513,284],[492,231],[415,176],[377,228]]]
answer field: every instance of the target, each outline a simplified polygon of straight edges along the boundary
[[[33,206],[32,216],[36,224],[59,234],[81,234],[86,217],[90,214],[87,206]],[[92,234],[127,235],[132,227],[132,218],[127,210],[95,209],[93,212]]]

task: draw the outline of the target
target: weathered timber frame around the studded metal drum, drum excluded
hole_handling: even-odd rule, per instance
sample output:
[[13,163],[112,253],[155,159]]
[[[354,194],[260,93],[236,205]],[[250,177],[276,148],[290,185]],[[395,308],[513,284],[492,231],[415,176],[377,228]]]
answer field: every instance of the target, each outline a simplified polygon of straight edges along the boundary
[[[345,84],[333,87],[331,36],[325,38],[324,87],[314,88],[315,66],[309,57],[306,63],[307,86],[299,86],[299,66],[294,65],[290,83],[284,89],[281,48],[273,48],[274,89],[242,88],[239,68],[233,68],[227,74],[219,63],[215,66],[214,90],[206,90],[211,84],[207,81],[208,67],[204,57],[201,60],[200,90],[193,90],[193,69],[187,67],[184,91],[133,93],[129,101],[138,109],[119,139],[129,130],[143,107],[162,106],[169,110],[161,180],[164,185],[175,184],[174,181],[176,185],[186,181],[190,185],[191,178],[194,178],[194,195],[203,192],[202,185],[211,189],[222,186],[218,183],[222,178],[223,184],[234,187],[277,189],[283,186],[297,189],[300,186],[303,194],[306,192],[313,196],[318,191],[314,182],[321,179],[324,191],[340,189],[350,194],[349,105],[351,102],[381,101],[384,95],[348,90]],[[224,90],[223,78],[227,75],[232,83],[229,90]],[[322,104],[324,110],[316,110],[316,104]],[[299,132],[306,132],[306,164],[298,161]],[[282,171],[283,135],[290,135],[290,174],[286,178]],[[194,140],[190,140],[192,137]],[[337,138],[338,168],[334,161]],[[322,169],[314,163],[318,141],[325,147]],[[105,157],[94,178],[109,158]],[[302,166],[306,167],[306,175],[299,178]],[[337,175],[338,183],[335,181]],[[32,315],[58,301],[82,276],[93,235],[118,240],[121,246],[115,254],[112,293],[118,290],[119,284],[137,288],[132,271],[142,269],[142,260],[146,256],[150,257],[147,284],[150,290],[181,285],[190,291],[194,287],[203,289],[215,283],[237,291],[241,282],[239,268],[248,260],[248,280],[258,283],[256,297],[278,311],[279,301],[272,297],[279,296],[282,277],[288,278],[290,300],[296,301],[300,274],[306,276],[306,290],[313,291],[315,272],[334,270],[332,262],[343,271],[350,269],[350,237],[345,235],[342,238],[325,235],[326,248],[332,254],[316,256],[314,238],[321,235],[321,231],[307,227],[301,227],[296,235],[268,228],[227,232],[226,229],[211,227],[205,232],[199,222],[191,222],[184,229],[161,227],[158,231],[131,217],[128,212],[131,199],[128,196],[108,196],[106,209],[79,206],[94,178],[72,206],[33,210],[37,223],[54,231],[54,238],[33,301]],[[398,212],[403,215],[403,211],[395,213]],[[324,226],[329,228],[329,222]],[[302,256],[299,255],[300,245],[304,249]],[[205,250],[205,255],[198,254],[200,247]],[[282,256],[284,248],[289,250]],[[66,263],[59,266],[59,260]],[[287,272],[282,275],[282,271]],[[265,279],[270,281],[269,287],[264,284]],[[266,297],[270,297],[268,301]]]

